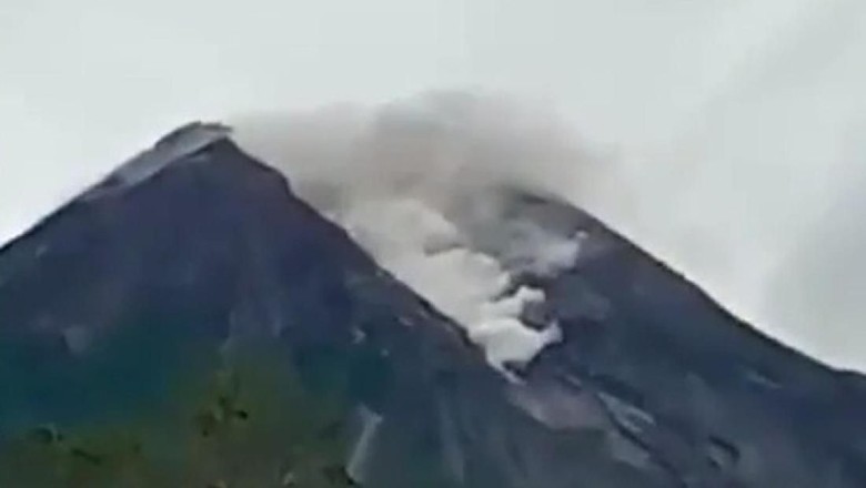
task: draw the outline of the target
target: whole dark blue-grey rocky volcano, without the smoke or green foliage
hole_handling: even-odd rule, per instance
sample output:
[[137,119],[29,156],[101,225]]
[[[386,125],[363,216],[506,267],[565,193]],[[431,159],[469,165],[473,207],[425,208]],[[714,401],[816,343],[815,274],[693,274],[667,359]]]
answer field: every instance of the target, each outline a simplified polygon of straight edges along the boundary
[[[508,211],[582,240],[571,270],[521,278],[564,339],[516,380],[226,128],[182,128],[0,251],[0,458],[40,426],[171,408],[177,378],[243,350],[340,405],[342,478],[311,487],[866,486],[866,379],[762,336],[578,210]],[[211,424],[256,418],[219,398]],[[235,471],[213,486],[246,486]]]

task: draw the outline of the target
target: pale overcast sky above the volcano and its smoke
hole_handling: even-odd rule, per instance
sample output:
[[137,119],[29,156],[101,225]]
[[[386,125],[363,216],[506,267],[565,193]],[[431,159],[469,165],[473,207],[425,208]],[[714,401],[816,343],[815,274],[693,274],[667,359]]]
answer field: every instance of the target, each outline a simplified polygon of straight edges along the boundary
[[591,210],[866,369],[865,59],[862,0],[4,0],[0,238],[190,119],[496,92],[606,162]]

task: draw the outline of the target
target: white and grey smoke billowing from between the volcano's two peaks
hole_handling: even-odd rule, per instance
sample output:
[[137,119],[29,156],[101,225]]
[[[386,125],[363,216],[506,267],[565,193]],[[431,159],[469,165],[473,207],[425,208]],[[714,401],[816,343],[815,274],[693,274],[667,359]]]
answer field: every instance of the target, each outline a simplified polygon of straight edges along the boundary
[[[241,145],[465,326],[493,365],[526,362],[560,337],[556,324],[524,323],[544,294],[513,277],[571,266],[580,240],[502,212],[503,189],[574,192],[577,172],[592,164],[555,118],[494,98],[436,93],[234,125]],[[495,255],[479,241],[493,242]]]

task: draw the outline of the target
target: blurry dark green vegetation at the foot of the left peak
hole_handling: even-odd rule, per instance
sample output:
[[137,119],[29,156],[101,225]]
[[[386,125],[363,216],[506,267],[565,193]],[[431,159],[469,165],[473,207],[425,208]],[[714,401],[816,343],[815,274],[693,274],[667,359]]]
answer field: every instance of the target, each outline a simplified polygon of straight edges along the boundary
[[[163,407],[123,420],[40,426],[0,448],[9,488],[340,488],[349,411],[266,346],[226,354]],[[158,411],[157,411],[158,410]]]

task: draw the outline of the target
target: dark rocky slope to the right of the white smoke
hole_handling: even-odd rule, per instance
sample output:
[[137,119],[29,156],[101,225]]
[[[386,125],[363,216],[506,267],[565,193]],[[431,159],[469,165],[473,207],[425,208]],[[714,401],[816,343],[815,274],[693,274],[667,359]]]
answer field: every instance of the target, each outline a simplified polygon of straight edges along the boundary
[[565,336],[531,378],[592,392],[647,461],[697,486],[864,482],[862,376],[763,336],[576,209],[516,195],[503,220],[581,240],[571,270],[523,278]]

